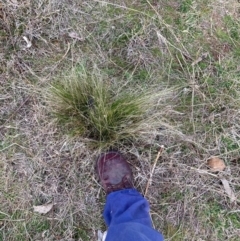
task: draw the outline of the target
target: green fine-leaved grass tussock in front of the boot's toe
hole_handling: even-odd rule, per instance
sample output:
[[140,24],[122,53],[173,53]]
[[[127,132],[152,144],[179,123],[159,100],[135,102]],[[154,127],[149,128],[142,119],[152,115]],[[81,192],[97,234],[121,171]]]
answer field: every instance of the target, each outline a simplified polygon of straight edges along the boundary
[[49,99],[57,121],[69,133],[113,146],[157,128],[162,113],[159,102],[169,92],[116,89],[81,66],[52,85]]

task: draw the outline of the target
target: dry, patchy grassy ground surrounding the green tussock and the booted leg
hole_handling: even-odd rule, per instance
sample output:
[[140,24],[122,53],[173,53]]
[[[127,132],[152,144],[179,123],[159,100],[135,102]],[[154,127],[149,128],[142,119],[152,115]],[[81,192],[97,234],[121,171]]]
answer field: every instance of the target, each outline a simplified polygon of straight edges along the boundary
[[[82,64],[113,89],[174,89],[158,128],[117,143],[166,240],[240,237],[240,4],[237,0],[0,3],[0,240],[96,240],[100,148],[55,122],[50,84]],[[155,110],[159,113],[159,110]],[[210,156],[227,168],[212,173]],[[231,201],[221,179],[236,197]],[[34,205],[54,203],[46,215]]]

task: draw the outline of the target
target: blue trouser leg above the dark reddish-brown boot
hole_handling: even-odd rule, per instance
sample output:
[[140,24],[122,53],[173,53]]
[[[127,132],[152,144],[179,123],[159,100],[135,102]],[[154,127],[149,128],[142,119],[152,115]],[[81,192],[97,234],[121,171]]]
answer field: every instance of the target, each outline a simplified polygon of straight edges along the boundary
[[163,241],[152,227],[147,200],[135,189],[110,193],[103,215],[108,226],[106,241]]

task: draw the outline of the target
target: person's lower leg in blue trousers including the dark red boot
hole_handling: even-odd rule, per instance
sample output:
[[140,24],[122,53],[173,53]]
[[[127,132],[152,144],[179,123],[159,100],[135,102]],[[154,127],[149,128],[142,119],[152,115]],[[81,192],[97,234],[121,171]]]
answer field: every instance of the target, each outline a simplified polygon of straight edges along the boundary
[[104,219],[106,241],[163,241],[152,228],[147,200],[133,187],[129,164],[118,152],[107,152],[97,161],[98,175],[107,192]]

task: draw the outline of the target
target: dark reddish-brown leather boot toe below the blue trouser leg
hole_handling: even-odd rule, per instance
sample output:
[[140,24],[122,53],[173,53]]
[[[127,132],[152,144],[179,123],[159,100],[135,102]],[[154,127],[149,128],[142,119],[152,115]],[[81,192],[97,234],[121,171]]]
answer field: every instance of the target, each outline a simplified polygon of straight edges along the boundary
[[119,152],[103,153],[97,160],[97,172],[107,194],[134,187],[130,165]]

